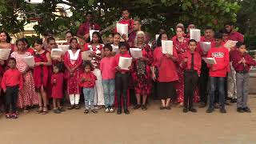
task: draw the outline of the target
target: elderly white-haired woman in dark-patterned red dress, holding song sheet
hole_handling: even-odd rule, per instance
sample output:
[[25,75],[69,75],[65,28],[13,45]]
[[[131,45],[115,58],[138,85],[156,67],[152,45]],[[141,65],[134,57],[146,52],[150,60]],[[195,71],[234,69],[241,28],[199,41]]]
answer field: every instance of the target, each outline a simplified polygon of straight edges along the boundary
[[146,98],[151,90],[150,65],[153,62],[153,54],[150,46],[145,44],[145,34],[143,31],[137,32],[134,46],[142,49],[142,58],[134,58],[134,70],[132,72],[134,90],[137,98],[137,105],[134,106],[134,110],[140,107],[142,107],[142,110],[147,110]]

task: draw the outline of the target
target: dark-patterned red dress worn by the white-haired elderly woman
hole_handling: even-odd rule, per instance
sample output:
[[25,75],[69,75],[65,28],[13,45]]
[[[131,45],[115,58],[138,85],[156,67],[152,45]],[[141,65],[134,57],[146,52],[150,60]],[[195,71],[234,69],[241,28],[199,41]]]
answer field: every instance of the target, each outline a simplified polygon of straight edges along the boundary
[[134,82],[134,90],[136,94],[149,95],[151,90],[151,70],[150,65],[153,62],[153,53],[149,45],[142,48],[143,58],[148,58],[148,62],[140,60],[134,61],[134,69],[131,73]]

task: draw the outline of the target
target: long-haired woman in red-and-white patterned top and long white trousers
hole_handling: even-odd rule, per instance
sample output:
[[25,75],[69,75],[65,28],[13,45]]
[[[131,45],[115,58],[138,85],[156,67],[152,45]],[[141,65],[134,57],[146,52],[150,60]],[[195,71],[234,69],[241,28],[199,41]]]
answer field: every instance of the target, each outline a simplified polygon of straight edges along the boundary
[[[94,66],[94,75],[97,77],[96,80],[96,93],[94,93],[94,105],[96,106],[104,106],[104,95],[103,95],[103,86],[102,86],[102,74],[101,70],[99,70],[100,61],[103,58],[104,50],[103,50],[103,41],[99,32],[95,31],[92,34],[92,40],[90,43],[86,43],[84,45],[84,49],[82,51],[91,50],[94,51],[94,54],[90,56],[93,58],[90,62]],[[97,109],[97,107],[96,107]]]

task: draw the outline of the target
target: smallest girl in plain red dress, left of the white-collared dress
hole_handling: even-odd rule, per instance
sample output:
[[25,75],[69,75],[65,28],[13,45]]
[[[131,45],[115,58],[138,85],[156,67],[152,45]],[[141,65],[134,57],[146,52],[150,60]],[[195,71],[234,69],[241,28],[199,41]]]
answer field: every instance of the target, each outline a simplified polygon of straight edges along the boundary
[[63,98],[63,73],[62,65],[60,63],[53,66],[54,74],[51,76],[52,94],[51,97],[54,99],[54,113],[60,114],[65,111],[61,106],[61,99]]

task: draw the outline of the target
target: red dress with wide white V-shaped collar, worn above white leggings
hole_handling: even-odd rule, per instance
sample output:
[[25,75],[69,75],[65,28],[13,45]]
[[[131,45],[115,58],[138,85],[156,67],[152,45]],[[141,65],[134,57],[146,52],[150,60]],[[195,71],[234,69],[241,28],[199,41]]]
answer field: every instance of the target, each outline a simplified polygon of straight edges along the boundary
[[[74,66],[78,66],[76,70],[74,70],[73,75],[70,74],[68,70],[66,70],[66,78],[67,78],[67,93],[68,94],[80,94],[81,88],[79,86],[79,77],[82,74],[82,54],[81,50],[77,50],[78,54],[73,54],[72,50],[66,51],[64,56],[64,65],[70,67],[70,69],[74,68]],[[77,56],[76,56],[77,55]],[[74,60],[76,59],[76,60]]]

